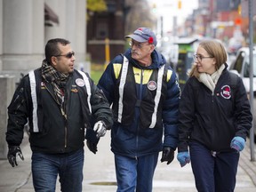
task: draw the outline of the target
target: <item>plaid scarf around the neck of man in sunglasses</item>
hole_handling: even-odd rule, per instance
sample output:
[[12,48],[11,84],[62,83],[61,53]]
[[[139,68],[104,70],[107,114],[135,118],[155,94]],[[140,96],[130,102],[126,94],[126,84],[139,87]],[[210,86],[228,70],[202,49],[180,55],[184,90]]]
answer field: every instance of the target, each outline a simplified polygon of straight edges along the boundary
[[[60,105],[60,108],[62,109],[62,103],[64,101],[63,93],[61,92],[61,89],[64,89],[66,86],[66,81],[68,78],[68,75],[60,73],[55,68],[52,67],[52,65],[48,65],[46,60],[43,60],[42,63],[42,76],[45,79],[46,82],[50,82],[53,87],[55,100]],[[62,100],[63,97],[63,100]]]

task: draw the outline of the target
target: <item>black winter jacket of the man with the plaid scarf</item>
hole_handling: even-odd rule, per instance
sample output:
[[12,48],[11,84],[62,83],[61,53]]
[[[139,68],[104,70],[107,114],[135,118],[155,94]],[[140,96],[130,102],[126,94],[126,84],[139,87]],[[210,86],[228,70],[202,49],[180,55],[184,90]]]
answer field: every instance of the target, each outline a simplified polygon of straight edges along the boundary
[[[85,86],[77,84],[83,76],[75,71],[68,76],[64,88],[64,108],[67,118],[63,116],[60,106],[54,99],[52,84],[42,81],[41,69],[36,69],[37,120],[39,132],[33,132],[32,99],[29,77],[24,76],[14,93],[8,107],[8,125],[6,141],[8,145],[19,146],[23,139],[23,127],[29,120],[29,141],[32,151],[61,154],[76,151],[84,147],[84,128],[91,129],[93,123],[103,120],[108,129],[112,123],[112,113],[105,98],[92,79],[91,86],[92,114],[87,103]],[[88,76],[86,74],[86,76]],[[89,76],[88,76],[89,77]],[[85,102],[84,102],[85,101]],[[27,120],[28,119],[28,120]]]

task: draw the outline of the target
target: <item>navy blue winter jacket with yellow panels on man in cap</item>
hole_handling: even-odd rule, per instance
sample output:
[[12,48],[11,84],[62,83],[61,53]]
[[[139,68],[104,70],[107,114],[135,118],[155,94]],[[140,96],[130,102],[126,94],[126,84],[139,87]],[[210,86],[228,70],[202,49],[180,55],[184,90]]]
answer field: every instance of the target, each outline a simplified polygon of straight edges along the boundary
[[[141,67],[137,60],[133,60],[131,57],[131,49],[124,53],[124,56],[129,60],[129,65],[132,65],[133,70],[136,70],[133,76],[135,77],[136,86],[136,98],[140,100],[145,97],[145,90],[148,89],[148,82],[144,75],[144,81],[142,74],[146,70],[158,70],[161,66],[164,66],[165,59],[159,52],[152,52],[152,64],[148,67]],[[103,75],[100,77],[99,88],[105,93],[110,104],[118,102],[119,98],[116,98],[116,84],[118,81],[118,68],[121,71],[123,65],[123,55],[118,55],[114,60],[108,64]],[[135,68],[135,69],[134,69]],[[117,71],[117,74],[116,74]],[[121,73],[121,72],[120,72]],[[111,129],[111,150],[121,156],[139,157],[152,153],[158,153],[163,148],[163,132],[164,132],[164,146],[177,148],[178,142],[178,108],[180,100],[180,87],[177,82],[177,76],[172,71],[172,68],[168,68],[167,73],[167,92],[164,95],[164,105],[162,117],[163,124],[160,127],[155,128],[141,128],[140,127],[140,107],[126,108],[127,110],[134,110],[134,116],[132,122],[129,125],[118,123],[114,119],[114,125]],[[130,93],[130,92],[129,92]],[[131,94],[131,93],[130,93]],[[114,114],[115,116],[115,114]],[[148,121],[150,121],[148,119]]]

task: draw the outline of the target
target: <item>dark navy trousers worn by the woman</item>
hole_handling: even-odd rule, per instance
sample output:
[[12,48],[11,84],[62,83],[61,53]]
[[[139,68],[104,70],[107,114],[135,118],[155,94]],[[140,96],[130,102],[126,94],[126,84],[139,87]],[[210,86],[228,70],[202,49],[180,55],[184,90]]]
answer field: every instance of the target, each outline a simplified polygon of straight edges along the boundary
[[234,150],[212,156],[208,148],[197,142],[191,142],[189,150],[198,192],[234,191],[239,153]]

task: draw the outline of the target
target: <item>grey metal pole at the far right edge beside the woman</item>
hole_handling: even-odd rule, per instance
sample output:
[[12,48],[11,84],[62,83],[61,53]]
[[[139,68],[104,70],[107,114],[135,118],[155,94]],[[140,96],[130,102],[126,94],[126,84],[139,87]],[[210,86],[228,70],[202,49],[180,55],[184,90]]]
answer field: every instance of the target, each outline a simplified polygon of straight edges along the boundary
[[[249,40],[250,40],[250,54],[249,54],[249,62],[250,62],[250,104],[251,111],[253,114],[253,0],[249,0],[248,4],[249,10]],[[254,124],[252,121],[252,129],[250,130],[250,149],[251,149],[251,161],[255,161],[254,156]]]

